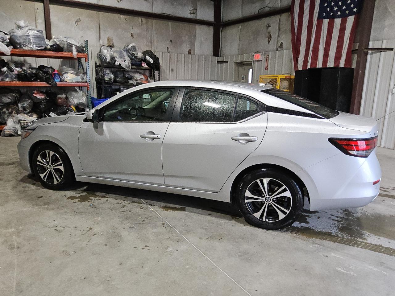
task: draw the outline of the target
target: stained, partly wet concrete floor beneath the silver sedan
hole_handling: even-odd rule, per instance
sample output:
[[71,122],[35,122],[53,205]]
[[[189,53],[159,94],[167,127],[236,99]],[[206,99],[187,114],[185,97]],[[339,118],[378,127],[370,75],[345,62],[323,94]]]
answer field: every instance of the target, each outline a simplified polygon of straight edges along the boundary
[[229,204],[95,184],[43,189],[0,138],[0,295],[393,295],[395,151],[380,195],[267,231]]

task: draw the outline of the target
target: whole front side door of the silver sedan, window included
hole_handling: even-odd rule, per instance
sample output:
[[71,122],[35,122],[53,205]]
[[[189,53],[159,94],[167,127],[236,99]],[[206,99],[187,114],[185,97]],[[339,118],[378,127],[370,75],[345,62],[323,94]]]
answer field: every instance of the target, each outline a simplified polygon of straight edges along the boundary
[[84,122],[79,158],[90,177],[164,185],[162,141],[178,88],[149,88],[100,109],[100,122]]

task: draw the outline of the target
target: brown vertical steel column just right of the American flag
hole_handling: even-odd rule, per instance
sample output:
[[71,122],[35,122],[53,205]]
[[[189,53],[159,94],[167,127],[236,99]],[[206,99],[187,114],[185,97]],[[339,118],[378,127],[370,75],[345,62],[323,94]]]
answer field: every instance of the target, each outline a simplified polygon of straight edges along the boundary
[[376,0],[365,0],[363,2],[362,12],[358,21],[359,38],[357,64],[354,71],[354,83],[352,86],[350,105],[350,113],[353,114],[359,114],[361,111],[363,82],[365,81],[366,61],[368,54],[368,52],[364,51],[364,49],[369,48],[375,3]]

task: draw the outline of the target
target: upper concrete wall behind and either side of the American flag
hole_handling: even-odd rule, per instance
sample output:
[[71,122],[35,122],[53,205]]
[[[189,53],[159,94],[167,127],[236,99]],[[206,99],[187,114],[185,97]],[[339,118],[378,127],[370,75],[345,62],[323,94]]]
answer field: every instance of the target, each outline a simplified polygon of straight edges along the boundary
[[[245,17],[290,4],[291,0],[223,0],[222,20],[228,21]],[[355,38],[358,35],[359,30],[357,28]],[[395,39],[395,1],[376,0],[371,41],[388,39]],[[245,22],[222,29],[222,56],[291,48],[290,13]]]

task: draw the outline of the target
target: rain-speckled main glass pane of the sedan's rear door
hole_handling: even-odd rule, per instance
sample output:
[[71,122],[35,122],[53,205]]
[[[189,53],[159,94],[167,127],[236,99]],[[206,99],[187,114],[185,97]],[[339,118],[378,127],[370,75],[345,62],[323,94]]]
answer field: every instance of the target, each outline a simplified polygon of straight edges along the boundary
[[236,95],[210,90],[186,89],[181,122],[231,122]]

